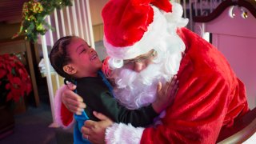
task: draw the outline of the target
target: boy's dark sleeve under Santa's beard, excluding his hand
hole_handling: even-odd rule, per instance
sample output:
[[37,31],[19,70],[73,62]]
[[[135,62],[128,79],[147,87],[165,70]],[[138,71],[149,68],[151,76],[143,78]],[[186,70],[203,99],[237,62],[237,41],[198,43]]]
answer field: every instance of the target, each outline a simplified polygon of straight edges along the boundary
[[105,114],[114,122],[131,123],[133,126],[148,126],[158,116],[158,113],[154,111],[151,104],[138,110],[127,109],[125,106],[120,105],[109,91],[100,93],[97,89],[94,90],[94,94],[91,94],[90,97],[88,98],[90,103],[86,101],[87,106]]

